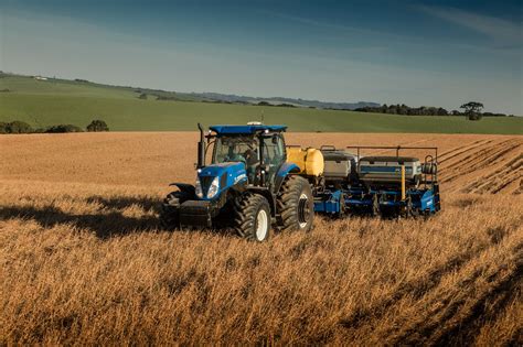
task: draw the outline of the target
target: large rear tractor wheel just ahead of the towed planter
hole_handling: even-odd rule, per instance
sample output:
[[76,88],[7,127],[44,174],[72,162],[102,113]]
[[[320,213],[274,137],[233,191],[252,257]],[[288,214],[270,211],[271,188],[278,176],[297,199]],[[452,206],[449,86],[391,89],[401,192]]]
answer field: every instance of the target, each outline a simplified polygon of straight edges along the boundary
[[277,204],[281,231],[312,229],[314,198],[306,178],[289,176],[281,186]]

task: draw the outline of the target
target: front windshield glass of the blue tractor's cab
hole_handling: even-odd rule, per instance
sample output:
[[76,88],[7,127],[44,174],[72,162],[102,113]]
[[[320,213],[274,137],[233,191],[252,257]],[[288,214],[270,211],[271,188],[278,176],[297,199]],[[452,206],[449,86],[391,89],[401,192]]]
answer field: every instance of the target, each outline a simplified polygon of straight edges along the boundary
[[242,162],[253,165],[259,161],[258,140],[254,137],[220,137],[214,143],[213,163]]

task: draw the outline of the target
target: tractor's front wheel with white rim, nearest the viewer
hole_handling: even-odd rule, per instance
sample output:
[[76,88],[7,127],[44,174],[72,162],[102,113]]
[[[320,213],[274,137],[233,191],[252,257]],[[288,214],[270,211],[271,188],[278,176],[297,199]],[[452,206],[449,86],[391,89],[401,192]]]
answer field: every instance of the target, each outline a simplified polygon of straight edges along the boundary
[[234,230],[243,238],[265,241],[270,236],[270,206],[267,199],[253,193],[245,193],[234,204]]

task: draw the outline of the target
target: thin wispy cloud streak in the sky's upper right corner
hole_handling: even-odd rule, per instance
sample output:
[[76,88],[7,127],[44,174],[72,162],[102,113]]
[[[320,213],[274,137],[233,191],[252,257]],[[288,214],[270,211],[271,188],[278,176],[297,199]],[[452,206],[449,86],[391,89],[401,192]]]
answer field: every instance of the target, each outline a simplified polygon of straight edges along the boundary
[[447,22],[468,28],[501,44],[522,41],[522,24],[455,8],[418,6],[418,10]]

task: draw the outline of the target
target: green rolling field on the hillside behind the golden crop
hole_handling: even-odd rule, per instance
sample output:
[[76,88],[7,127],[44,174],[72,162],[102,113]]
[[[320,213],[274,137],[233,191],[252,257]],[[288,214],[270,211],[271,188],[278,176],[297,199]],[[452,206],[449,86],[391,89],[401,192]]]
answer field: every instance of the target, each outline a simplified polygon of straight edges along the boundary
[[93,119],[103,119],[115,131],[172,131],[194,130],[196,122],[246,123],[263,117],[265,123],[285,123],[291,131],[523,134],[522,117],[468,121],[463,117],[138,99],[137,88],[9,75],[0,78],[3,89],[9,91],[0,93],[0,121],[22,120],[35,128],[58,123],[85,127]]

